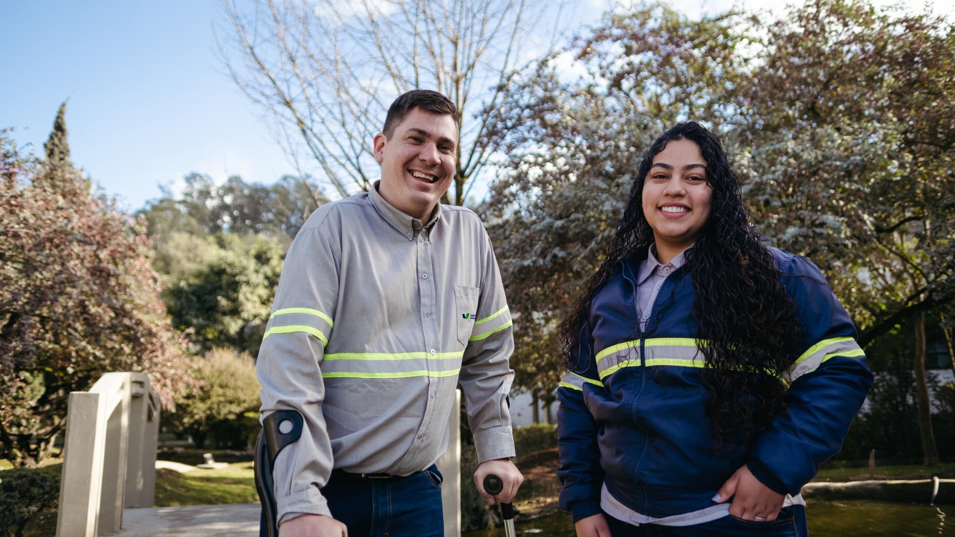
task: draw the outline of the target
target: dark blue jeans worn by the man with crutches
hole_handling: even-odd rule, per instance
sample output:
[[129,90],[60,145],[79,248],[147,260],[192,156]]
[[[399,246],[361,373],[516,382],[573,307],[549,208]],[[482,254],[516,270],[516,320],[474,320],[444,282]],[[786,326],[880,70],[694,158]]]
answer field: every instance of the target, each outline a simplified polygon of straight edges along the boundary
[[349,537],[444,537],[442,479],[434,464],[403,478],[336,470],[322,495],[331,516],[348,526]]

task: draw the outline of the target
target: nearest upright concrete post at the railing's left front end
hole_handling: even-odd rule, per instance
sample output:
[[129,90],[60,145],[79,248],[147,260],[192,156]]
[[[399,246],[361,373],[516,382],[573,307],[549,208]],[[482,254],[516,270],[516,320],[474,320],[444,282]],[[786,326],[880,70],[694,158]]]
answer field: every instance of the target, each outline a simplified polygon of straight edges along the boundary
[[70,394],[56,537],[96,535],[106,440],[106,398],[106,394],[92,392]]

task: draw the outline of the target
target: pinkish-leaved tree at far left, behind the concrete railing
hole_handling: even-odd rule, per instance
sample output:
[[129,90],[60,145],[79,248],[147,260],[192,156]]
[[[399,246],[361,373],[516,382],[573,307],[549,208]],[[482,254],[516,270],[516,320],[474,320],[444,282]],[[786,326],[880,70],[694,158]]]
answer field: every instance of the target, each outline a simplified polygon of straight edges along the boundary
[[0,131],[0,445],[16,465],[50,455],[70,392],[103,373],[148,373],[167,407],[183,379],[146,237],[70,163],[64,112],[42,160]]

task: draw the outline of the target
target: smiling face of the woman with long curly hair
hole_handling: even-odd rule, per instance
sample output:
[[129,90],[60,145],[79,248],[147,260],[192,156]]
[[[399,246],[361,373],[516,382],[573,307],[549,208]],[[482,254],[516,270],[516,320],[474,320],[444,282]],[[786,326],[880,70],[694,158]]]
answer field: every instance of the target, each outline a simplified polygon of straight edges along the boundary
[[657,248],[682,250],[693,244],[710,218],[711,197],[699,146],[690,140],[668,142],[653,157],[644,180],[644,215]]

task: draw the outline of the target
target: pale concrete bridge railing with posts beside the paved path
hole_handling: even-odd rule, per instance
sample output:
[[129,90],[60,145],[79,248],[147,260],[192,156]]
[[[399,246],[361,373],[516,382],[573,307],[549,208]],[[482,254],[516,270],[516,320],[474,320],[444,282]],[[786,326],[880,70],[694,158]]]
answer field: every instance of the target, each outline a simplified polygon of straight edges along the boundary
[[141,373],[107,373],[68,401],[57,537],[115,535],[123,507],[150,507],[159,400]]

